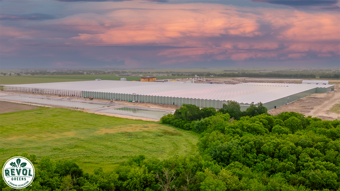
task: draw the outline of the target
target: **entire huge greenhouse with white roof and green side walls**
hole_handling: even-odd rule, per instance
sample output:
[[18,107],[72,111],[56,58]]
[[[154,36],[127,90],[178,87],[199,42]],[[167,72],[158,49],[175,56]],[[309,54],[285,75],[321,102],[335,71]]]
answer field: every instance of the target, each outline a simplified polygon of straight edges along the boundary
[[106,100],[158,104],[193,104],[219,109],[227,100],[237,101],[241,110],[251,103],[263,103],[268,110],[304,98],[313,93],[334,90],[331,84],[243,83],[192,84],[133,81],[81,81],[4,85],[4,90]]

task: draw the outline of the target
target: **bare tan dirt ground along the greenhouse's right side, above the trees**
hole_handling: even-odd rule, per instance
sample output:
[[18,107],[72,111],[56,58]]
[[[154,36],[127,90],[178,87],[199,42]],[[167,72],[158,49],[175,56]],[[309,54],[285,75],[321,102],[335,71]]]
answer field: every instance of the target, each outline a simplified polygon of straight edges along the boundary
[[314,93],[289,105],[283,105],[268,111],[271,115],[277,115],[284,111],[294,111],[305,116],[318,117],[323,120],[340,120],[340,114],[329,111],[335,104],[340,103],[340,85],[336,84],[334,91],[328,93]]

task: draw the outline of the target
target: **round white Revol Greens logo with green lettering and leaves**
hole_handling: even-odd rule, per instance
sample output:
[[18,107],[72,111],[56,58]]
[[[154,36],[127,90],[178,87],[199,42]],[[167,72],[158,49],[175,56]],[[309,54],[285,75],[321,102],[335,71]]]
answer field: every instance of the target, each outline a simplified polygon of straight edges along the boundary
[[2,168],[2,178],[12,188],[25,188],[34,179],[33,164],[25,157],[10,158]]

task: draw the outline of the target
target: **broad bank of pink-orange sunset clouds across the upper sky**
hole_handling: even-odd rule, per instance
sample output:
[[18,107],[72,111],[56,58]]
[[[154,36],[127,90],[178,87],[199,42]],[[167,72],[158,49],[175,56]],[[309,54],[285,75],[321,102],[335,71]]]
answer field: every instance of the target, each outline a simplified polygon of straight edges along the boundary
[[[307,59],[311,54],[319,57],[340,54],[338,12],[149,1],[85,2],[70,5],[65,11],[77,14],[41,21],[37,26],[78,35],[57,38],[48,36],[48,32],[2,26],[1,35],[21,46],[35,42],[45,46],[177,47],[138,55],[143,59],[145,55],[166,59],[160,61],[162,65],[211,59]],[[86,56],[105,62],[124,60],[128,67],[143,63],[133,55]]]

